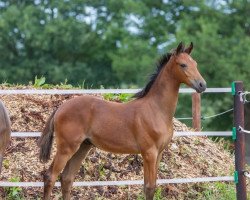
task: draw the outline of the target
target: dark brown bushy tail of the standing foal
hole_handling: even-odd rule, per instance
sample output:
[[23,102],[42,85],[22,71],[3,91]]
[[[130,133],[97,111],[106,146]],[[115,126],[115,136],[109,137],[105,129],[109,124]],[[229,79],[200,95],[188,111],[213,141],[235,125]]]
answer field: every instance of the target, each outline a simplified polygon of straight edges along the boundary
[[39,159],[41,162],[47,162],[50,159],[51,148],[54,138],[54,115],[56,110],[50,115],[48,121],[45,124],[41,138],[38,141],[40,147]]

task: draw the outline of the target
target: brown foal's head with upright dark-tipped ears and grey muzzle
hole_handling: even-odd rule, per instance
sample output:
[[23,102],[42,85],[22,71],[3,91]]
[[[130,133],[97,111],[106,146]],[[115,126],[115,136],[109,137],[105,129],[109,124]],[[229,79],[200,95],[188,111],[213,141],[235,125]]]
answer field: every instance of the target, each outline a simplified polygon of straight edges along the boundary
[[200,75],[196,61],[190,56],[192,49],[192,42],[187,48],[182,42],[178,45],[170,58],[172,60],[172,72],[180,83],[185,83],[201,93],[206,89],[206,81]]

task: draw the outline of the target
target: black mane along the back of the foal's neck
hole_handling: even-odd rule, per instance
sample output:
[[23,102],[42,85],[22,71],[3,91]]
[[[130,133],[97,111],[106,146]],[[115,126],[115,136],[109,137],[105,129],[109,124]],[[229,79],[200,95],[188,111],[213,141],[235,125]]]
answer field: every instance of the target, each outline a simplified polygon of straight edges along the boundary
[[161,70],[166,65],[166,63],[169,61],[171,56],[172,56],[172,53],[167,53],[159,59],[157,65],[156,65],[155,73],[153,73],[150,76],[149,82],[147,83],[147,85],[140,92],[137,92],[134,95],[135,98],[140,99],[140,98],[145,97],[148,94],[148,92],[149,92],[150,88],[152,87],[152,85],[154,84],[157,76],[160,74]]

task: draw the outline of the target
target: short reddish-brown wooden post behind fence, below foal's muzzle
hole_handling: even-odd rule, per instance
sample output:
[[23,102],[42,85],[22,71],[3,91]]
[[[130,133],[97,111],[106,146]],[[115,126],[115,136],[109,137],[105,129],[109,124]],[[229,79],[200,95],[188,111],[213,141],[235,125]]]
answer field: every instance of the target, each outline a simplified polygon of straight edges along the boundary
[[192,93],[192,117],[193,129],[201,131],[201,95],[199,93]]

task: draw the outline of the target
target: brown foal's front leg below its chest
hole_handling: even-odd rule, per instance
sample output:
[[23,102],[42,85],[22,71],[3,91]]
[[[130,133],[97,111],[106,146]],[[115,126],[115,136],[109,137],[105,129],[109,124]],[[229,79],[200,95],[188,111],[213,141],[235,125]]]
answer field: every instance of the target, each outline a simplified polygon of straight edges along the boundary
[[156,188],[158,152],[156,150],[147,151],[142,154],[142,157],[144,166],[144,193],[146,200],[153,200]]

